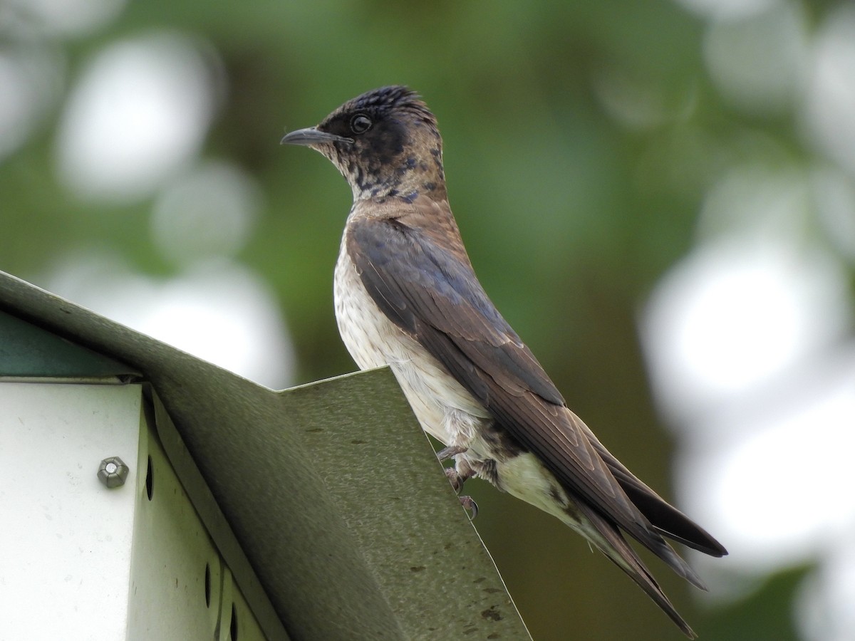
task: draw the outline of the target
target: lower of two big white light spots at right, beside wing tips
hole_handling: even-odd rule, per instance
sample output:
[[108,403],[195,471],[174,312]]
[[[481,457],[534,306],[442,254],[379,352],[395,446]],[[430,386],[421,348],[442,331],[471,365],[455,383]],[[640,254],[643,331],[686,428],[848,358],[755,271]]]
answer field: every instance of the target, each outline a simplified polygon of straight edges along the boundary
[[855,521],[853,414],[855,344],[800,368],[777,394],[705,417],[716,438],[685,453],[680,485],[688,504],[704,503],[740,572],[815,561]]

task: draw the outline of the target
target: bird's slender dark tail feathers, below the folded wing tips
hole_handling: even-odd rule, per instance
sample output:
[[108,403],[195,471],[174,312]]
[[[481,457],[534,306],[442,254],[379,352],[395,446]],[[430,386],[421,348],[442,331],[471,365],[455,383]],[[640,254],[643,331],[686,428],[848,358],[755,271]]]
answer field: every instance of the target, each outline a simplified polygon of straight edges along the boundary
[[[688,638],[697,638],[693,629],[689,627],[687,622],[677,613],[668,597],[665,596],[662,588],[657,584],[656,579],[653,579],[650,571],[645,567],[644,563],[641,562],[638,554],[636,554],[632,546],[627,543],[626,539],[623,538],[620,529],[608,520],[605,520],[598,514],[597,510],[586,505],[584,502],[578,502],[576,504],[576,508],[579,509],[581,515],[584,515],[591,525],[596,528],[599,534],[598,537],[589,538],[589,540],[591,540],[591,542],[596,545],[611,562],[615,563],[617,567],[620,567],[625,573],[627,573],[630,579],[633,579],[635,583],[645,591],[646,595],[652,598],[653,602],[656,603],[659,608],[675,622],[675,624]],[[657,552],[657,550],[653,551]],[[671,554],[679,559],[681,566],[688,568],[686,562],[683,562],[682,559],[676,555],[674,550],[671,550]],[[673,567],[673,563],[669,559],[665,560]],[[688,569],[688,572],[692,575],[694,574],[691,568]],[[681,574],[685,576],[684,573]],[[692,580],[690,576],[687,576],[686,578]],[[694,583],[695,581],[692,582]]]

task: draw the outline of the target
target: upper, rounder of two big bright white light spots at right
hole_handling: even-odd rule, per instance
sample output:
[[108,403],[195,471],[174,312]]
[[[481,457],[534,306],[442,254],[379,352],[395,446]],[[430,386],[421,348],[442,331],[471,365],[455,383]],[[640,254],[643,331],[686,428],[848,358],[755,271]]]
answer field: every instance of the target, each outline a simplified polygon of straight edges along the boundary
[[660,282],[642,335],[663,411],[685,425],[774,385],[849,321],[844,273],[823,252],[722,240]]

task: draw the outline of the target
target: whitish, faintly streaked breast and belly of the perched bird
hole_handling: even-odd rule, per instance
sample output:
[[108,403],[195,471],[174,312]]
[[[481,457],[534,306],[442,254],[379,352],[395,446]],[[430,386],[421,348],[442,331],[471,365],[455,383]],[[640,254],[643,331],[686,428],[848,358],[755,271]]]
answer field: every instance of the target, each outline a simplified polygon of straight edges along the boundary
[[389,365],[422,429],[446,445],[468,448],[486,409],[421,344],[386,318],[369,296],[342,244],[333,285],[341,338],[360,369]]

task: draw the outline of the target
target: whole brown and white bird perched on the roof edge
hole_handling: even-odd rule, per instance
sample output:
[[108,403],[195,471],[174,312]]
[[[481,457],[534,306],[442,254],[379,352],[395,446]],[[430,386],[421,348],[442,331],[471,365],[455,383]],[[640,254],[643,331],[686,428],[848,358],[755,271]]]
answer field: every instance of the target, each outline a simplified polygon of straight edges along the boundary
[[727,550],[625,468],[567,407],[475,276],[445,191],[437,121],[413,91],[382,87],[282,143],[320,151],[353,190],[335,266],[339,332],[359,368],[389,365],[422,428],[472,476],[557,516],[694,632],[623,533],[693,585],[664,537]]

